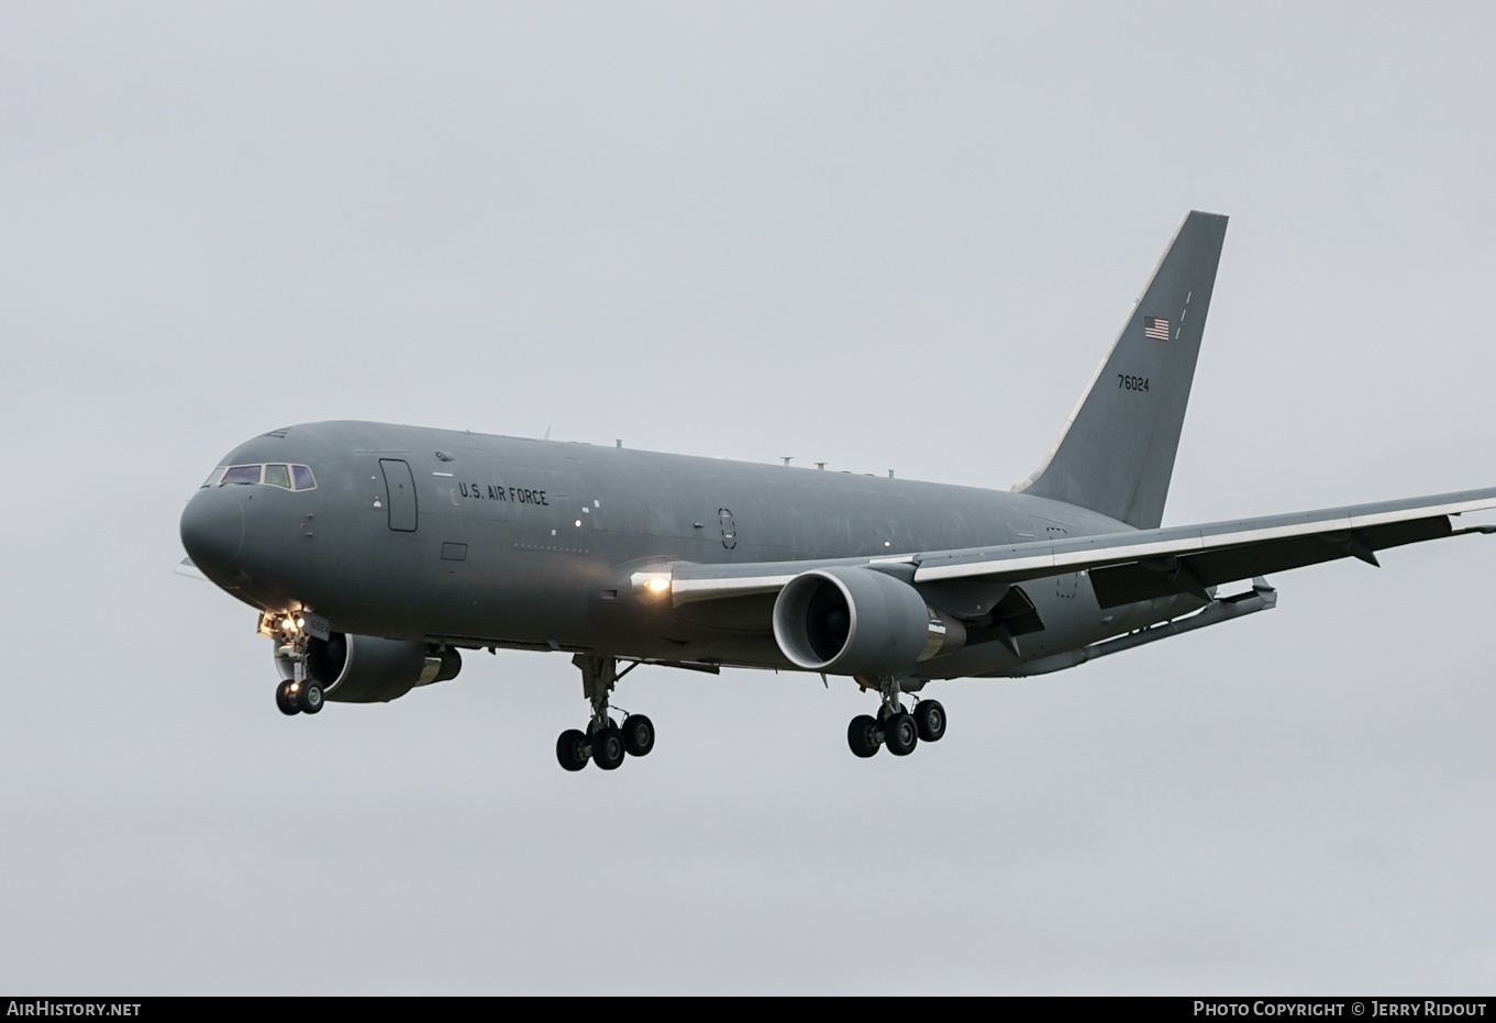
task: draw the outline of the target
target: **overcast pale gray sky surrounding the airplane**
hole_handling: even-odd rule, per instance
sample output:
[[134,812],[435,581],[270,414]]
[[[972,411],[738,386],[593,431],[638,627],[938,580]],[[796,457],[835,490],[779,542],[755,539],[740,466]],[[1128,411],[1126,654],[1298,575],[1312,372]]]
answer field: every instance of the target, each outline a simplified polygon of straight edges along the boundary
[[287,719],[171,574],[353,417],[1007,488],[1231,215],[1167,523],[1496,485],[1496,7],[0,3],[0,989],[1490,992],[1496,540],[932,686],[562,655]]

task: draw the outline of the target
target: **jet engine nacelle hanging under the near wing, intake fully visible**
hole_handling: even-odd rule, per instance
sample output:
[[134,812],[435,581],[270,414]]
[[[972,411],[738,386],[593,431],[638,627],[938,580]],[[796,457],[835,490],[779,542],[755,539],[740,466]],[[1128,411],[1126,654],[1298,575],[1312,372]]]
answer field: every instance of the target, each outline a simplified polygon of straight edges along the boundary
[[901,675],[959,651],[966,628],[872,568],[812,568],[779,591],[773,639],[790,661],[835,675]]

